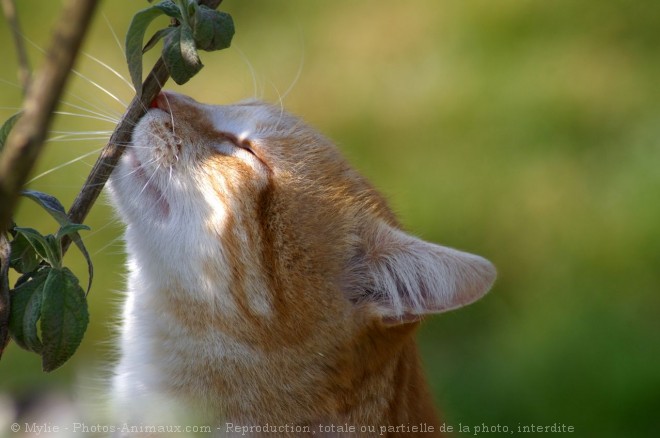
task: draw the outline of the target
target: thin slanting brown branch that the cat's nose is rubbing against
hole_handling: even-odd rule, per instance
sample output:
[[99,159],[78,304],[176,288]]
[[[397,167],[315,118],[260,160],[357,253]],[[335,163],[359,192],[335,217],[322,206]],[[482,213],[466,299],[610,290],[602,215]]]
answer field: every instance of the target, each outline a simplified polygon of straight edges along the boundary
[[[158,58],[154,68],[147,76],[147,79],[145,79],[144,84],[142,84],[142,93],[140,96],[135,96],[131,101],[126,109],[126,113],[124,113],[112,133],[108,144],[103,148],[101,155],[96,160],[94,168],[87,177],[87,181],[85,181],[85,185],[83,185],[80,193],[78,193],[78,196],[73,201],[68,214],[74,223],[81,224],[87,217],[103,186],[116,167],[119,158],[124,153],[126,145],[130,143],[133,127],[146,114],[151,102],[160,93],[160,90],[168,79],[167,67],[163,59]],[[64,252],[66,252],[70,244],[71,241],[68,239],[62,241]]]

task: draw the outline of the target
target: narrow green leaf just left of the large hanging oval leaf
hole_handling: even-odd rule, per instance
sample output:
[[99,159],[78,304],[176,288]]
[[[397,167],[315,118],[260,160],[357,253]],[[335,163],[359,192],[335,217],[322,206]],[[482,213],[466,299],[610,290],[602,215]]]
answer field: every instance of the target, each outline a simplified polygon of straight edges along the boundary
[[44,284],[51,268],[43,268],[29,281],[11,292],[9,334],[22,348],[40,353],[42,343],[37,333],[37,321],[41,315]]

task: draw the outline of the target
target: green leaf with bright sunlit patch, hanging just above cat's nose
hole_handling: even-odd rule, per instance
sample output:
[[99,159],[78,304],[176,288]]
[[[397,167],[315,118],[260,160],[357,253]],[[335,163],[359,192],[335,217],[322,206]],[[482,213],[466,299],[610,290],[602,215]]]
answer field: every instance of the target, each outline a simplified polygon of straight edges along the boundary
[[185,23],[165,38],[163,61],[174,82],[185,84],[199,72],[203,65],[197,55],[192,29]]

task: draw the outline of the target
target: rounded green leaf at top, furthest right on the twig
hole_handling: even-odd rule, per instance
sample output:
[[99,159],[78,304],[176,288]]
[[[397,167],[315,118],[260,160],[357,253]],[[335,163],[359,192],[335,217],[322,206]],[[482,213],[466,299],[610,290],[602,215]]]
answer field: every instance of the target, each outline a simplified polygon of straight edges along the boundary
[[234,20],[225,12],[199,6],[195,11],[193,36],[197,47],[207,52],[226,49],[234,37]]

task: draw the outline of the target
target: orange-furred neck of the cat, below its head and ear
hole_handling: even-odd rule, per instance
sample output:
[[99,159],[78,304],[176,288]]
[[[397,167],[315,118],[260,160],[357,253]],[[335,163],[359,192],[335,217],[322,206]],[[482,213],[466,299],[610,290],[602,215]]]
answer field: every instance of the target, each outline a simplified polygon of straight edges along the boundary
[[[437,428],[414,342],[416,323],[376,323],[350,341],[338,334],[332,353],[304,354],[304,345],[298,351],[291,339],[286,348],[264,349],[223,321],[217,309],[191,305],[186,294],[194,292],[151,290],[149,304],[141,300],[130,316],[148,327],[151,354],[145,359],[163,373],[159,391],[188,399],[192,411],[204,410],[218,424]],[[168,341],[174,337],[176,342]]]

